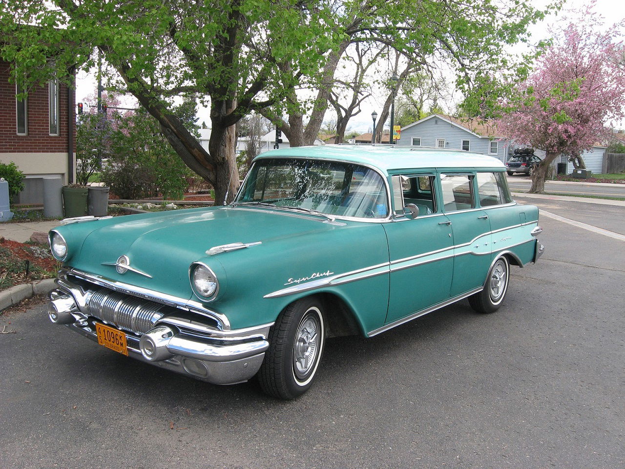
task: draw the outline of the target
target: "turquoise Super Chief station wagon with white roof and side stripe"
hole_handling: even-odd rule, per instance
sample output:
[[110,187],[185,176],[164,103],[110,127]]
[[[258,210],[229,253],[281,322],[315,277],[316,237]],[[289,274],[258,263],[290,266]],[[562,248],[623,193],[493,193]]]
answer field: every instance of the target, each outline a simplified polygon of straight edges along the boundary
[[49,318],[166,370],[256,376],[295,398],[328,337],[371,337],[463,298],[501,306],[511,266],[544,249],[538,209],[512,200],[505,174],[466,151],[269,151],[229,205],[53,229]]

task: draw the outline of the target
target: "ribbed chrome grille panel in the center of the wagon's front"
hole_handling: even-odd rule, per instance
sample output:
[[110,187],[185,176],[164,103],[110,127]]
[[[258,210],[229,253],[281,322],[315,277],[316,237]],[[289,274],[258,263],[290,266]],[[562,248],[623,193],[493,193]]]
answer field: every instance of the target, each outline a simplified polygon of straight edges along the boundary
[[120,329],[143,335],[161,319],[168,306],[101,288],[89,296],[88,314]]

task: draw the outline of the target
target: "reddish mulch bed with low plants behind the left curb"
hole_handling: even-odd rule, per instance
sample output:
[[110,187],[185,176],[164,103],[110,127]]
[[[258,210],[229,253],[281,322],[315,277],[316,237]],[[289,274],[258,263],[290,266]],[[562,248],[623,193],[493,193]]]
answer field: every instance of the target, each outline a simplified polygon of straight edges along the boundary
[[0,290],[20,283],[54,278],[58,262],[46,245],[17,243],[0,237]]

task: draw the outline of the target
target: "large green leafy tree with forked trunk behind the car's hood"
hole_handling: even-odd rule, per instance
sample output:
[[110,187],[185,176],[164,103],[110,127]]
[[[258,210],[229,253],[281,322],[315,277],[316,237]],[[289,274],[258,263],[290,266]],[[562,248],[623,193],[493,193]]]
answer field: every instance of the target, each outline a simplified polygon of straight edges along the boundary
[[[0,32],[11,37],[0,55],[16,76],[27,85],[54,76],[69,83],[71,68],[93,67],[99,49],[109,78],[121,78],[109,85],[138,99],[217,200],[239,185],[234,124],[317,74],[339,41],[325,1],[6,0],[0,8]],[[181,94],[210,106],[208,151],[173,113]]]

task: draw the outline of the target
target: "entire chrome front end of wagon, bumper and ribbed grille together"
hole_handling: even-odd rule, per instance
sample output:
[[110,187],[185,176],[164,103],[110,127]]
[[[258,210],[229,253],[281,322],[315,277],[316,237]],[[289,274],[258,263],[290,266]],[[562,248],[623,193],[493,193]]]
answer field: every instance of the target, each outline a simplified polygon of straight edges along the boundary
[[128,356],[219,385],[256,374],[272,326],[231,330],[225,316],[192,301],[72,269],[59,271],[48,315],[96,342],[96,323],[109,325],[126,336]]

